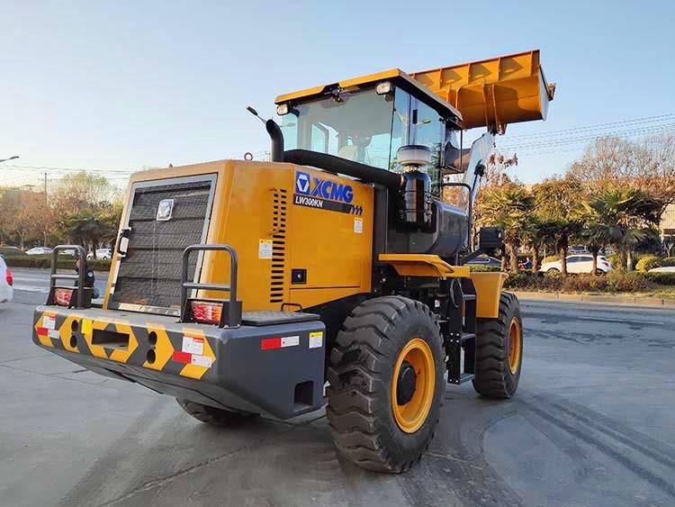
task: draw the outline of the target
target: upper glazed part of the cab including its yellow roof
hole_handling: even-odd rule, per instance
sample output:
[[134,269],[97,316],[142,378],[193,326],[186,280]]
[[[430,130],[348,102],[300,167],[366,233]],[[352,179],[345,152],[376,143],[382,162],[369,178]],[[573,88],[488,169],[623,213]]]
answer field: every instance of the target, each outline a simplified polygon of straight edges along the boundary
[[[402,173],[400,149],[427,147],[419,170],[441,195],[444,177],[463,172],[462,114],[399,69],[276,99],[284,149],[305,149]],[[465,164],[464,164],[465,165]]]

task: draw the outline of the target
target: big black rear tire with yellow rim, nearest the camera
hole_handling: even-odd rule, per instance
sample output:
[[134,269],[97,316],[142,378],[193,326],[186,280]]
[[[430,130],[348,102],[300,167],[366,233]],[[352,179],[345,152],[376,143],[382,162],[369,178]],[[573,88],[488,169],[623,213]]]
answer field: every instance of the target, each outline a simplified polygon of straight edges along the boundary
[[444,358],[427,305],[387,296],[357,306],[329,359],[327,413],[338,451],[378,472],[419,462],[443,404]]

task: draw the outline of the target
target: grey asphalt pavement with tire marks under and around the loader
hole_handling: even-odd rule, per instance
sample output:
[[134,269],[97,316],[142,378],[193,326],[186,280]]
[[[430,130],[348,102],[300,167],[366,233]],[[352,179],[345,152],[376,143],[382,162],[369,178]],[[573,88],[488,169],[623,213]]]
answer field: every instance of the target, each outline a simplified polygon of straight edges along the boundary
[[523,302],[517,397],[447,386],[427,457],[376,475],[338,458],[321,412],[213,429],[38,349],[43,297],[0,305],[3,506],[675,504],[672,310]]

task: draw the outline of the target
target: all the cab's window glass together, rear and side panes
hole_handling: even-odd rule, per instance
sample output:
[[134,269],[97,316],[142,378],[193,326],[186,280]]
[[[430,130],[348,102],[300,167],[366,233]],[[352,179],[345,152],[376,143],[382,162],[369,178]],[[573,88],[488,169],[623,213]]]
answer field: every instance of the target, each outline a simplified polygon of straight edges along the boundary
[[[403,169],[401,146],[419,144],[431,149],[431,163],[421,170],[431,178],[432,192],[441,196],[448,174],[445,149],[456,144],[452,123],[420,97],[400,87],[378,95],[374,87],[352,87],[301,104],[289,104],[282,117],[284,149],[307,149],[395,172]],[[456,149],[455,149],[456,151]],[[472,173],[473,177],[473,173]],[[463,192],[447,199],[462,206]],[[465,194],[465,192],[464,192]],[[445,195],[444,195],[445,198]]]

